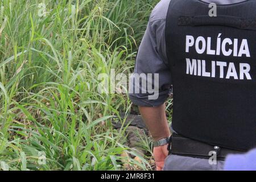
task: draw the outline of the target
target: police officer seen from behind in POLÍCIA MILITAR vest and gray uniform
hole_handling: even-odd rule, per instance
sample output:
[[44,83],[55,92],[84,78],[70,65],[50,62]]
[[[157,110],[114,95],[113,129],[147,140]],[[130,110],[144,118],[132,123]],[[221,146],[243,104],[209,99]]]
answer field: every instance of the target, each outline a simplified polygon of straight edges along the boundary
[[[256,146],[255,9],[255,0],[162,0],[152,11],[130,99],[154,140],[157,170],[221,170],[226,155]],[[136,79],[148,73],[153,80]]]

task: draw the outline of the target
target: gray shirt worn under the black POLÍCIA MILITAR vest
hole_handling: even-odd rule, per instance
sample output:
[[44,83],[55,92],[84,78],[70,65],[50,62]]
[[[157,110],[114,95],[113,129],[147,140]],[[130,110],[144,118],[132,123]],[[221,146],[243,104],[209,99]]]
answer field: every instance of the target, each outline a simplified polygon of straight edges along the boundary
[[[246,0],[202,0],[217,5],[228,5]],[[139,106],[155,107],[162,105],[168,98],[172,84],[171,73],[168,67],[166,53],[166,16],[171,0],[162,0],[156,5],[150,15],[147,30],[143,36],[138,50],[134,73],[158,73],[159,97],[156,100],[148,100],[149,93],[130,93],[130,100]],[[130,80],[130,85],[141,89],[141,86]]]

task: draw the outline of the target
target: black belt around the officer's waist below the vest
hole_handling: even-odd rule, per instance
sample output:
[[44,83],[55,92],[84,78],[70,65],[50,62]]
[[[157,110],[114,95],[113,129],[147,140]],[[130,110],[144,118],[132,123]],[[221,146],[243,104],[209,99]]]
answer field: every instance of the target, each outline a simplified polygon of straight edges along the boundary
[[168,149],[170,154],[173,155],[191,156],[203,159],[210,159],[210,157],[216,155],[217,160],[225,160],[226,156],[229,154],[243,154],[246,152],[213,146],[211,144],[184,138],[177,134],[172,135]]

